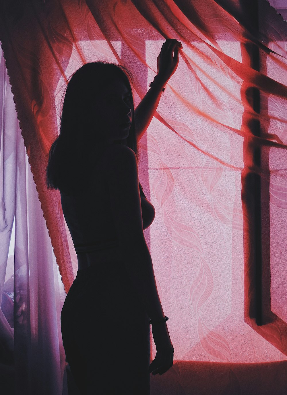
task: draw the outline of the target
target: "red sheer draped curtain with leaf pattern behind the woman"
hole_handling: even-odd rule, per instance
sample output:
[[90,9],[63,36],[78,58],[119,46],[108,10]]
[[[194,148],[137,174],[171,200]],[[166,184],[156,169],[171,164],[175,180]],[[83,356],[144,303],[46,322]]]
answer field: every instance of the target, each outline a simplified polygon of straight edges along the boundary
[[[66,292],[77,259],[60,194],[45,186],[66,81],[86,62],[118,62],[133,73],[137,105],[165,38],[182,42],[140,142],[139,179],[156,209],[144,234],[178,362],[152,385],[168,376],[170,393],[180,385],[188,393],[209,374],[218,393],[245,393],[240,380],[260,371],[255,384],[272,393],[272,374],[287,359],[287,22],[266,0],[10,1],[0,11],[20,127]],[[224,379],[214,381],[219,362],[231,364],[217,364]],[[242,378],[236,363],[255,370]],[[267,366],[273,389],[263,380]]]

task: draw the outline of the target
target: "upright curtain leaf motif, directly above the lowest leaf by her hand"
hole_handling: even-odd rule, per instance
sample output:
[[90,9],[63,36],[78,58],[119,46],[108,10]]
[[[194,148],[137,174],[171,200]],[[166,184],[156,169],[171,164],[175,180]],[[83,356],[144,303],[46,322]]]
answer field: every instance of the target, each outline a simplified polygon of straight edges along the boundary
[[196,316],[212,294],[213,284],[214,281],[210,267],[206,261],[200,257],[199,272],[189,288],[191,306]]

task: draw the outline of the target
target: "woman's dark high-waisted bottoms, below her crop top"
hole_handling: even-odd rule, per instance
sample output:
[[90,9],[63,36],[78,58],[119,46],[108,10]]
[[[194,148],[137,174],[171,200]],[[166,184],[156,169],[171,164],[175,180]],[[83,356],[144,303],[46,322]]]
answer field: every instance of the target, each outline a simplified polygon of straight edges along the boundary
[[150,394],[150,324],[123,261],[78,270],[61,313],[81,394]]

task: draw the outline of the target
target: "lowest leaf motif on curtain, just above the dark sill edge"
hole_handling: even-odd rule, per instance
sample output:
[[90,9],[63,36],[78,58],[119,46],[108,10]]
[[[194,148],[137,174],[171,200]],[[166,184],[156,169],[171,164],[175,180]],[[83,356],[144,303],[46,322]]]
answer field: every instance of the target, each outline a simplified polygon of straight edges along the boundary
[[224,362],[232,362],[231,349],[227,340],[219,333],[208,329],[201,316],[199,316],[197,329],[200,343],[208,354]]

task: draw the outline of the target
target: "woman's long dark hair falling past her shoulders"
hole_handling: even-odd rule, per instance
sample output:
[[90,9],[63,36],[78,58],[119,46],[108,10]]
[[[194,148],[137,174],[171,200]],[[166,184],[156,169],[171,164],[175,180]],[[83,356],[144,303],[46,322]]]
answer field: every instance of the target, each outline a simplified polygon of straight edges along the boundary
[[95,96],[99,89],[115,78],[124,81],[132,102],[129,135],[124,140],[116,140],[116,143],[127,145],[135,152],[137,159],[139,158],[131,73],[124,66],[114,63],[84,64],[72,74],[66,87],[60,117],[60,134],[49,151],[46,168],[48,189],[70,190],[73,186],[80,186],[80,184],[82,186],[88,182],[88,173],[92,170],[88,161],[90,145],[103,141],[102,134],[100,131],[97,134],[95,126],[96,119],[93,114]]

